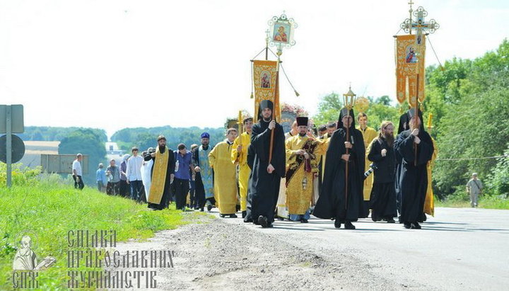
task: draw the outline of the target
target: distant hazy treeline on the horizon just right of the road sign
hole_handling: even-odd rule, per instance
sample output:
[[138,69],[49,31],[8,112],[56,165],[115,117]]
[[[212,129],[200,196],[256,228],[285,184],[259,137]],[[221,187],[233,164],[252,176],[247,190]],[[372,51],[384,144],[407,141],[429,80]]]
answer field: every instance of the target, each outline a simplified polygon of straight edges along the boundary
[[25,126],[25,132],[19,135],[23,140],[37,140],[37,141],[60,141],[67,137],[71,132],[76,130],[91,130],[97,135],[102,142],[107,142],[107,135],[105,130],[97,128],[82,128],[82,127],[50,127],[50,126]]

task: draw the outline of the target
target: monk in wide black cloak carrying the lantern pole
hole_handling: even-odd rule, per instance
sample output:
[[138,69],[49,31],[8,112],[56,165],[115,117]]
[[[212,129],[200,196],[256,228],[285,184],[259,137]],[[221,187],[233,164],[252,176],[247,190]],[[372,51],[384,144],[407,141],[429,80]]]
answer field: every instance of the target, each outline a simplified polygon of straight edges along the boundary
[[[365,148],[362,133],[355,128],[353,110],[341,109],[338,129],[331,137],[320,197],[315,205],[315,217],[335,218],[334,227],[355,229],[351,222],[357,221],[363,210],[363,175]],[[349,128],[349,139],[346,139]],[[346,154],[346,148],[349,154]],[[348,188],[345,194],[346,166]]]

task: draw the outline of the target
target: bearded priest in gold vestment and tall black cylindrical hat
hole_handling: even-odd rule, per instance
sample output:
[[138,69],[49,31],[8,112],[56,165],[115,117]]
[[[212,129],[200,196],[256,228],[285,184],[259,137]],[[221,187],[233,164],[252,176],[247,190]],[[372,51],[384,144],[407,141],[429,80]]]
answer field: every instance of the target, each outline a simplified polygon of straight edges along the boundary
[[308,222],[313,179],[318,178],[320,156],[328,142],[308,132],[308,118],[298,117],[298,135],[286,139],[286,205],[290,220]]

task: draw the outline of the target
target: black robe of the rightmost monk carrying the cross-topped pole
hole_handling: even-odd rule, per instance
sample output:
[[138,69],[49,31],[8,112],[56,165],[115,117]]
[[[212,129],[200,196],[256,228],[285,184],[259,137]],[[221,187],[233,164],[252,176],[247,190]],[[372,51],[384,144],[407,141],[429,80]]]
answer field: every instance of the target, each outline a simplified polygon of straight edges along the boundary
[[426,190],[428,189],[428,170],[426,166],[433,155],[433,142],[428,132],[419,130],[421,142],[417,145],[417,166],[414,165],[414,135],[405,130],[397,135],[394,151],[402,159],[399,173],[400,217],[399,222],[418,222],[423,215]]

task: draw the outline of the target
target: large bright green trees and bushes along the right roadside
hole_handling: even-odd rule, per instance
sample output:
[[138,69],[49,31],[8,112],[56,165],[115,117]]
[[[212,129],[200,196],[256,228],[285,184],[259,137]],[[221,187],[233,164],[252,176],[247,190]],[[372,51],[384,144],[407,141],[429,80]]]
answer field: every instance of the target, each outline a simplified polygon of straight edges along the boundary
[[[452,70],[450,74],[449,69]],[[481,180],[494,177],[495,159],[470,158],[499,156],[507,148],[509,42],[505,40],[496,52],[487,52],[474,61],[446,63],[443,72],[434,71],[431,75],[429,87],[435,95],[428,108],[437,113],[434,120],[437,120],[440,149],[433,180],[439,193],[450,195],[455,192],[455,186],[464,185],[474,171]],[[485,189],[485,193],[492,192],[490,186]]]

